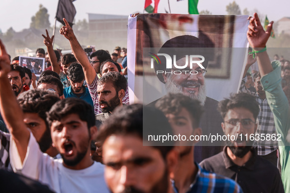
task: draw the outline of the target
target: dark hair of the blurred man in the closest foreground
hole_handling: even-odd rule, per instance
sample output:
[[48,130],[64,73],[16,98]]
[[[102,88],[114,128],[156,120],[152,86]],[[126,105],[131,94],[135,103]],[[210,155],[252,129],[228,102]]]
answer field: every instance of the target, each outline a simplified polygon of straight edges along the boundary
[[148,143],[160,150],[165,159],[168,152],[173,149],[173,142],[168,141],[167,146],[164,146],[160,141],[148,141],[147,138],[148,135],[160,133],[173,135],[172,128],[164,114],[154,107],[132,104],[115,109],[110,119],[101,126],[97,140],[104,143],[111,135],[136,135],[141,140],[143,139],[143,143],[145,142],[146,145]]

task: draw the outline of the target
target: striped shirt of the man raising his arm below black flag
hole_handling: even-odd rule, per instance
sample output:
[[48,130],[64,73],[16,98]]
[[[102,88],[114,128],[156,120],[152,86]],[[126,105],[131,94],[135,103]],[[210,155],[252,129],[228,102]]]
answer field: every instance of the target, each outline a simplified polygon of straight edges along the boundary
[[[99,77],[96,74],[94,81],[92,82],[92,84],[88,84],[87,83],[87,87],[89,89],[90,95],[93,99],[94,102],[94,110],[95,110],[95,115],[98,115],[100,113],[102,113],[102,109],[101,106],[99,104],[99,96],[97,93],[97,81],[98,81]],[[129,105],[129,91],[128,91],[128,84],[127,84],[127,89],[125,91],[125,96],[123,97],[123,104],[128,104]]]

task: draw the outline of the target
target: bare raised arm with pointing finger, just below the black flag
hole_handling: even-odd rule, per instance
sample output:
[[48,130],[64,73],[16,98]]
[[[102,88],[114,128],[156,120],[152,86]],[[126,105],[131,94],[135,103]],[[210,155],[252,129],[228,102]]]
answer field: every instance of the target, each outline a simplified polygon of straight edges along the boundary
[[94,67],[90,64],[90,61],[83,50],[81,48],[75,34],[73,31],[73,28],[70,26],[70,24],[66,21],[65,18],[63,18],[63,21],[65,23],[65,26],[62,26],[59,30],[59,33],[63,35],[66,39],[70,41],[71,48],[73,50],[73,53],[77,60],[79,61],[80,65],[82,66],[85,80],[88,84],[92,84],[96,77],[96,72]]

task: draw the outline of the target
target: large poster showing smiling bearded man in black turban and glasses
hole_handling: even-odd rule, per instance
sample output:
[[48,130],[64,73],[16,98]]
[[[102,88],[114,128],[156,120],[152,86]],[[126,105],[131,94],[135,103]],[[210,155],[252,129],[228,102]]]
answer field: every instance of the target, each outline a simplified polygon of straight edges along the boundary
[[[223,120],[217,105],[238,92],[247,58],[247,18],[181,14],[129,17],[130,103],[155,105],[169,92],[183,93],[204,107],[200,121],[203,135],[207,139],[222,136]],[[200,141],[195,145],[195,161],[217,154],[222,145],[222,140]]]

